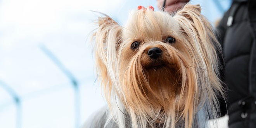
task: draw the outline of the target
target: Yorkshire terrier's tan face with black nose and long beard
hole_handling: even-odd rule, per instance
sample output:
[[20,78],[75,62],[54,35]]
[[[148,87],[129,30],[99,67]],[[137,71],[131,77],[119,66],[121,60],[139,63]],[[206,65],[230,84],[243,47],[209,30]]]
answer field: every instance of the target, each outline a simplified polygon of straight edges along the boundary
[[191,44],[178,22],[163,12],[137,10],[121,40],[117,52],[123,100],[135,109],[138,104],[156,110],[173,108],[183,75],[192,66]]

